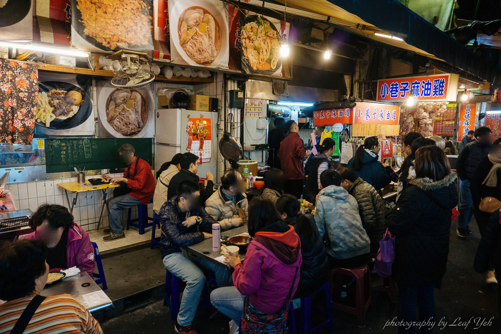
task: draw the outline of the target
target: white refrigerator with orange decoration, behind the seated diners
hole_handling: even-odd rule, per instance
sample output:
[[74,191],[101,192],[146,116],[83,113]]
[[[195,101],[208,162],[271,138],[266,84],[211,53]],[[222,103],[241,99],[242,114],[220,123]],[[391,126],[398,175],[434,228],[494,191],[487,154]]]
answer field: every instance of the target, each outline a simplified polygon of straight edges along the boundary
[[199,157],[198,176],[216,175],[217,145],[217,113],[155,110],[155,171],[176,153],[191,152]]

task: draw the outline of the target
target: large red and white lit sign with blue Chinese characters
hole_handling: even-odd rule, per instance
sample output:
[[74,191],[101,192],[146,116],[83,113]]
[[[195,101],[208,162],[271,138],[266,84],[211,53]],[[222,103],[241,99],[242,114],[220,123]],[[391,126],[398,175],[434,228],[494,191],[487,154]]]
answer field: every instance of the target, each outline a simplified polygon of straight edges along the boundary
[[457,75],[443,74],[378,80],[378,101],[407,101],[410,94],[416,101],[455,101]]

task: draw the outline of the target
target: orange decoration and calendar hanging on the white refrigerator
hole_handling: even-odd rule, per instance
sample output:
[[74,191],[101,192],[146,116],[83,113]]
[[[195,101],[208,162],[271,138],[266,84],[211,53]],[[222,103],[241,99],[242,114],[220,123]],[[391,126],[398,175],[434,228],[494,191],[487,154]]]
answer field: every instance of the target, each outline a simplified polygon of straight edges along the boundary
[[210,118],[188,118],[186,151],[200,157],[200,162],[210,162],[211,131]]

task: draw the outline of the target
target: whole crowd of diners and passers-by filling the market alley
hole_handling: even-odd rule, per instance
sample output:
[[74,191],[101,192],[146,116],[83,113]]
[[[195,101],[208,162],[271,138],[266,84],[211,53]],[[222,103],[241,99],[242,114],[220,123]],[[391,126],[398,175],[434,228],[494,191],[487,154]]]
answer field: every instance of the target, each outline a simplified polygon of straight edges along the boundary
[[[290,121],[282,129],[289,134],[284,134],[276,156],[271,154],[280,168],[267,171],[264,187],[250,201],[238,170],[226,170],[216,189],[207,173],[202,187],[196,175],[199,158],[192,153],[176,154],[156,172],[154,186],[133,148],[120,149],[128,168],[123,178],[112,181],[125,182],[124,188],[130,191],[108,202],[108,239],[123,234],[122,223],[119,218],[113,220],[112,210],[143,203],[150,194],[161,220],[163,265],[186,283],[174,324],[177,333],[196,334],[192,322],[208,270],[217,283],[210,301],[230,319],[231,332],[286,332],[291,301],[297,306],[299,298],[318,290],[332,268],[372,263],[387,230],[395,236],[392,278],[399,289],[399,319],[416,321],[416,309],[419,320],[433,318],[434,289],[440,287],[446,271],[452,210],[458,202],[457,235],[468,237],[474,214],[482,235],[474,268],[487,273],[488,283],[497,283],[501,272],[497,256],[501,254],[501,140],[492,143],[488,128],[476,129],[461,149],[457,175],[445,152],[419,133],[405,136],[402,146],[407,157],[401,169],[394,171],[379,162],[376,137],[365,139],[348,166],[334,169],[329,160],[335,150],[333,140],[318,144],[318,153],[309,158],[311,151],[298,136],[298,125]],[[395,205],[387,207],[381,188],[392,181],[398,184],[398,197]],[[313,213],[304,214],[302,204],[314,209]],[[221,230],[247,224],[252,237],[243,262],[225,253],[229,270],[183,250],[211,238],[215,223]],[[0,333],[12,330],[28,309],[33,314],[27,328],[33,332],[56,326],[55,320],[37,320],[45,313],[49,318],[64,318],[65,324],[59,326],[101,332],[99,323],[71,296],[39,296],[51,271],[77,265],[92,275],[94,253],[88,234],[60,205],[42,205],[30,225],[34,233],[3,243],[0,249],[0,272],[5,273],[0,275],[0,299],[7,300],[0,305]],[[501,294],[499,300],[501,306]],[[399,332],[415,330],[401,326]]]

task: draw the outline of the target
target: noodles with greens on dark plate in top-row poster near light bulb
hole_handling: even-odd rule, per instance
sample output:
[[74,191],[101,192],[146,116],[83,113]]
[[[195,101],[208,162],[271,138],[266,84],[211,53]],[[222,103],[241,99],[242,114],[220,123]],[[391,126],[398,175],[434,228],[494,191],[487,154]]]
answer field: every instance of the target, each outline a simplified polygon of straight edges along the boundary
[[240,39],[242,67],[247,73],[271,75],[280,69],[282,37],[270,20],[261,15],[243,18]]

